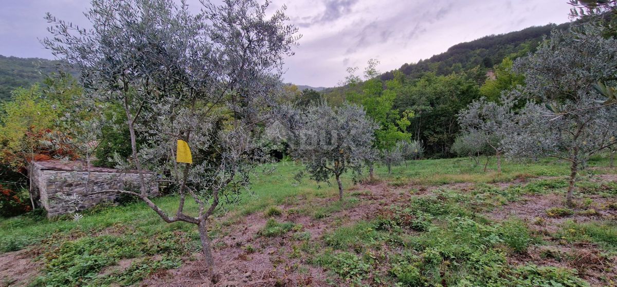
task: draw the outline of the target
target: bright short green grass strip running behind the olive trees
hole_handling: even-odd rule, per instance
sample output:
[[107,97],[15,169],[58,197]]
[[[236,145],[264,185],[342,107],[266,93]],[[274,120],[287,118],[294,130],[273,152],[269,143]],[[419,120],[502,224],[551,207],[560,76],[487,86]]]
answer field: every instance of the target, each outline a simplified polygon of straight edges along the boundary
[[[592,162],[593,164],[594,162]],[[606,165],[606,162],[599,164]],[[468,159],[437,159],[416,160],[408,162],[408,167],[399,165],[392,168],[392,175],[387,175],[385,167],[376,169],[380,178],[391,178],[393,181],[413,181],[420,184],[445,183],[489,183],[493,181],[507,181],[516,176],[529,174],[532,176],[559,176],[566,175],[568,167],[563,164],[546,160],[539,163],[505,163],[502,175],[496,175],[493,164],[489,165],[489,172],[484,173],[483,167],[473,167]],[[276,170],[269,175],[259,175],[254,179],[252,191],[254,194],[245,194],[236,210],[242,214],[251,214],[263,210],[270,205],[280,205],[291,198],[291,195],[305,194],[309,198],[316,195],[335,196],[335,187],[328,184],[317,184],[308,178],[302,184],[294,184],[293,176],[302,168],[292,162],[281,162]],[[345,178],[345,186],[351,184],[350,178]],[[177,206],[175,196],[161,197],[155,202],[164,210],[172,211]],[[191,202],[185,207],[188,213],[196,211],[196,205]],[[106,208],[93,214],[86,214],[79,222],[70,220],[48,221],[38,217],[18,216],[10,219],[0,219],[0,251],[19,249],[22,245],[39,242],[43,238],[58,232],[70,232],[79,229],[83,232],[96,232],[114,224],[130,224],[146,234],[155,234],[160,230],[169,230],[192,226],[177,222],[166,224],[143,203],[130,203],[126,206]]]

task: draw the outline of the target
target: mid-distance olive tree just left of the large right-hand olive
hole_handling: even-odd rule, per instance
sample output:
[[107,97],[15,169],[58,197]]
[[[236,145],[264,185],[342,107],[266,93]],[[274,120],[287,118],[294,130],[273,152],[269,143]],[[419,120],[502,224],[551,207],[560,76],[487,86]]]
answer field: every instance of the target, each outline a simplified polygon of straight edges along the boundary
[[[473,101],[467,109],[458,114],[458,124],[463,134],[478,146],[487,146],[497,157],[497,173],[501,173],[501,159],[504,151],[503,139],[509,135],[507,125],[515,117],[513,108],[516,101],[509,96],[502,96],[500,103],[487,101],[486,98]],[[471,146],[473,144],[470,143]],[[488,160],[487,160],[488,163]],[[486,167],[486,165],[485,165]],[[485,168],[486,170],[486,168]]]

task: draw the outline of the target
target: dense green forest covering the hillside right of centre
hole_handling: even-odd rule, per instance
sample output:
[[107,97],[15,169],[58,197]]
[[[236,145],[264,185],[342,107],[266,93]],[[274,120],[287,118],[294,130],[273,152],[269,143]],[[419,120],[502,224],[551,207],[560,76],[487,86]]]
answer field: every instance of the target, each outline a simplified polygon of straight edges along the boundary
[[[392,108],[380,123],[382,128],[398,129],[399,138],[421,141],[426,157],[451,157],[458,112],[481,96],[496,100],[503,90],[522,84],[523,77],[511,72],[513,61],[534,52],[551,31],[568,27],[569,23],[549,24],[482,37],[386,73],[376,71],[369,61],[365,81],[328,88],[323,97],[332,104],[351,101],[365,108],[371,106],[368,98],[379,99],[379,105]],[[347,78],[360,80],[353,73]],[[402,117],[410,122],[404,130],[389,127]]]

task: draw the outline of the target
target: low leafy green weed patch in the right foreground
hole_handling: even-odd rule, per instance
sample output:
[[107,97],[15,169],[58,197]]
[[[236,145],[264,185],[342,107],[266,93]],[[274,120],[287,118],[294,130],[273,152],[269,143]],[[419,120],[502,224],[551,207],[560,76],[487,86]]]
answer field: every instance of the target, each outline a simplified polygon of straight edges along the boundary
[[[508,255],[526,253],[535,239],[523,221],[491,222],[474,213],[499,189],[434,193],[324,235],[332,249],[312,262],[346,280],[356,274],[355,285],[385,280],[395,286],[589,286],[574,270],[508,263]],[[332,255],[334,250],[344,252]],[[379,272],[384,264],[387,274]]]

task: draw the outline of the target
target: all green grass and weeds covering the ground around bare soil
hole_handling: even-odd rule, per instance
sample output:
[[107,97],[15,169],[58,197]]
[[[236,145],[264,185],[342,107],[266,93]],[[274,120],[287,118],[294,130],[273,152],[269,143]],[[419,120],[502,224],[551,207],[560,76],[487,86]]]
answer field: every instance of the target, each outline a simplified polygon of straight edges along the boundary
[[[589,165],[607,166],[608,161],[595,157]],[[520,200],[524,194],[563,192],[567,186],[566,163],[549,159],[504,162],[500,174],[494,172],[494,162],[484,173],[483,165],[474,166],[468,159],[416,160],[409,162],[407,168],[393,167],[392,175],[387,175],[385,167],[377,167],[376,175],[385,181],[387,189],[400,190],[411,183],[470,185],[465,192],[445,186],[402,204],[382,204],[375,217],[355,222],[331,217],[358,205],[375,203],[365,199],[371,197],[371,191],[351,188],[349,175],[342,178],[346,194],[339,201],[336,186],[307,178],[300,184],[294,181],[294,175],[302,170],[299,165],[280,162],[275,167],[273,173],[252,178],[252,193],[242,194],[239,204],[230,206],[225,221],[213,221],[209,230],[213,238],[228,234],[226,229],[243,222],[249,214],[263,214],[268,220],[257,235],[263,240],[292,240],[294,247],[289,258],[301,258],[330,270],[328,280],[334,280],[333,285],[337,285],[336,278],[341,278],[356,286],[542,286],[551,280],[565,286],[586,286],[569,269],[508,264],[508,256],[523,256],[530,245],[540,241],[520,219],[494,222],[482,216],[497,206]],[[506,189],[491,184],[540,176],[555,178],[535,179]],[[580,194],[586,196],[617,195],[613,183],[582,181],[580,186]],[[154,202],[166,211],[174,211],[178,197],[159,197]],[[611,203],[602,208],[617,209]],[[187,201],[184,209],[189,214],[197,212],[192,201]],[[563,215],[562,210],[552,210],[551,214],[553,211]],[[289,219],[283,218],[296,213],[333,227],[317,240],[312,239],[301,225],[284,221]],[[180,258],[199,250],[195,226],[184,222],[167,224],[141,202],[102,206],[84,214],[80,221],[68,217],[47,219],[36,213],[0,219],[0,253],[36,248],[44,272],[33,281],[33,286],[125,286],[135,285],[157,270],[176,268],[181,264]],[[569,222],[554,236],[568,243],[593,242],[608,250],[617,248],[617,230],[610,222]],[[263,246],[242,248],[250,254],[260,252]],[[131,260],[128,269],[101,273],[127,259]],[[302,264],[294,268],[306,269]]]

